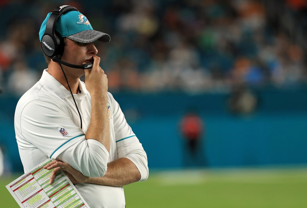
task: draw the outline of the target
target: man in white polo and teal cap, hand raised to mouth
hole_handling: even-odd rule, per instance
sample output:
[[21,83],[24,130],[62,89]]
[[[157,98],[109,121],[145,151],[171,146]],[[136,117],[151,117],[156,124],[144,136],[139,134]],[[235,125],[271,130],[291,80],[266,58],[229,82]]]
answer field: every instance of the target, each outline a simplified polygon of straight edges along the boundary
[[[41,26],[40,40],[49,16]],[[122,186],[147,179],[147,156],[107,92],[107,76],[95,56],[93,41],[107,34],[93,30],[88,20],[80,24],[80,16],[86,18],[77,11],[61,15],[56,31],[64,37],[62,61],[81,65],[94,59],[91,69],[63,66],[82,129],[60,65],[45,56],[48,69],[16,107],[19,153],[25,172],[50,157],[53,161],[45,168],[56,168],[50,183],[60,168],[66,171],[91,208],[125,207]],[[85,84],[79,80],[84,73]]]

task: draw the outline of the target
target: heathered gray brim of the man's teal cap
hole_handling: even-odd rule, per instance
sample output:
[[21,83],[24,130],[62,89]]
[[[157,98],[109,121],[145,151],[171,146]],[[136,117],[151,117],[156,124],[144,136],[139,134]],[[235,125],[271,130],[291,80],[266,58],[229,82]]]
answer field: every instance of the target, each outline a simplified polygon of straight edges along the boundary
[[97,40],[105,43],[110,41],[110,35],[93,29],[81,31],[79,33],[67,36],[67,38],[80,43],[91,43]]

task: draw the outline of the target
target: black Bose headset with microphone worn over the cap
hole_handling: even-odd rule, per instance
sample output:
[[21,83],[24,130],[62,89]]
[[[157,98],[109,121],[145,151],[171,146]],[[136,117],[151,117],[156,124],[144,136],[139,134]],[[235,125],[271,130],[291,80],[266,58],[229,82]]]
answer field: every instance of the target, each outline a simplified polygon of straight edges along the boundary
[[46,30],[41,38],[41,48],[43,52],[52,59],[52,61],[63,64],[65,66],[76,68],[76,69],[91,69],[93,66],[94,60],[90,63],[83,64],[83,65],[74,65],[69,64],[65,61],[61,60],[61,56],[64,52],[64,41],[62,36],[58,31],[56,31],[56,22],[59,17],[69,11],[77,11],[76,7],[63,5],[56,7],[56,9],[51,13],[49,19],[47,21]]

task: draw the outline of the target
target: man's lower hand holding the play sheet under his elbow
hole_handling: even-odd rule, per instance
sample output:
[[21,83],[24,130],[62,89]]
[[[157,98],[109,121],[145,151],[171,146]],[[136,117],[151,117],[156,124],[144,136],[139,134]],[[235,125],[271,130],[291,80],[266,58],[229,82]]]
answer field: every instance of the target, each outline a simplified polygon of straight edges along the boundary
[[51,170],[54,168],[50,175],[49,184],[53,183],[56,174],[58,174],[60,171],[64,171],[64,173],[67,175],[67,177],[71,180],[73,184],[86,183],[89,179],[89,177],[84,176],[82,173],[71,167],[68,163],[63,163],[60,160],[53,160],[52,162],[45,165],[43,168],[47,170]]

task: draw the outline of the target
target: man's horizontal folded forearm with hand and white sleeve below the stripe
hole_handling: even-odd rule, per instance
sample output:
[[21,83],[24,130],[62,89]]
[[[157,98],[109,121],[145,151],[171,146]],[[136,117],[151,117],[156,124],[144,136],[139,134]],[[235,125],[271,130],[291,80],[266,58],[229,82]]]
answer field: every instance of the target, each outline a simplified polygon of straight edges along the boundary
[[121,147],[118,147],[119,156],[124,154],[124,157],[108,163],[107,172],[102,177],[87,177],[72,168],[68,163],[52,161],[45,166],[45,168],[49,167],[49,170],[55,168],[50,176],[50,184],[60,170],[66,173],[72,183],[124,186],[146,180],[148,178],[147,157],[142,144],[137,140]]

